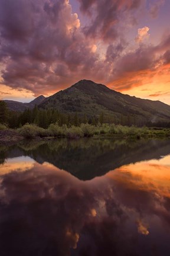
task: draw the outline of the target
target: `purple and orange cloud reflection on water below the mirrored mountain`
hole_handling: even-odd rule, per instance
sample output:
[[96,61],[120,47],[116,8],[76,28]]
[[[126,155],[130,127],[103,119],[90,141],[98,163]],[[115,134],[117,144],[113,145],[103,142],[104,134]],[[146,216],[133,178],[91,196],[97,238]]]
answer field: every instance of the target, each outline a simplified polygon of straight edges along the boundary
[[145,255],[150,244],[162,248],[170,233],[170,199],[164,193],[168,172],[165,166],[162,174],[154,167],[154,176],[152,167],[148,170],[145,163],[142,171],[140,165],[91,181],[47,163],[1,176],[2,256],[65,256],[70,248],[76,255]]

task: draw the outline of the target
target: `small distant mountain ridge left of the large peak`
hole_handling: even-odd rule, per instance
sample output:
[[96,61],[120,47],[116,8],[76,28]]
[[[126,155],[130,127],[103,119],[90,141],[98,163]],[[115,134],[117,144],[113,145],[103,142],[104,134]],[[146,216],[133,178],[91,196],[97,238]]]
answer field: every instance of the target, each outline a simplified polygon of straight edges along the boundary
[[4,101],[8,105],[9,110],[24,111],[26,108],[30,108],[30,109],[34,108],[35,105],[39,105],[44,100],[45,100],[45,97],[43,95],[40,95],[34,100],[32,100],[30,103],[21,103],[19,101],[12,101],[12,100],[4,100]]

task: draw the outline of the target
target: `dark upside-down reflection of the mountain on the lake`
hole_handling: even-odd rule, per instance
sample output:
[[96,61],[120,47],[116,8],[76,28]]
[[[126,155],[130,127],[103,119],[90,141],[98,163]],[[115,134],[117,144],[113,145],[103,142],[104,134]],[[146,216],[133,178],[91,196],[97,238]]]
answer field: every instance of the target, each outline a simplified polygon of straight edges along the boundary
[[9,149],[8,158],[27,155],[40,164],[50,162],[80,180],[91,180],[122,165],[159,159],[161,155],[169,153],[169,140],[127,142],[107,139],[61,139],[36,144],[21,143]]

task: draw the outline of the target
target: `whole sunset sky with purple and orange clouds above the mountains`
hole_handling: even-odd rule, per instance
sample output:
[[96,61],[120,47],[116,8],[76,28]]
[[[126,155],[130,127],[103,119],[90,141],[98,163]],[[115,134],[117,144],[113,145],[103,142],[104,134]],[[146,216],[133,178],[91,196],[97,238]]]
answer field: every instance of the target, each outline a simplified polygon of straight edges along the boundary
[[169,0],[0,0],[0,99],[90,79],[170,104]]

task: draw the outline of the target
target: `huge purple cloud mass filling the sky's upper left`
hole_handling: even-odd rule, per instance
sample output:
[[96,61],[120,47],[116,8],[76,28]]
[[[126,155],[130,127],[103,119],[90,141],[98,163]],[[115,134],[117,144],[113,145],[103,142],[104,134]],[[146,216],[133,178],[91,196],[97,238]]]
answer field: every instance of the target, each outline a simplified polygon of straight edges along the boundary
[[91,56],[97,46],[84,39],[69,1],[0,3],[2,84],[36,95],[57,91],[82,78],[84,71],[90,76],[97,69],[98,56]]

